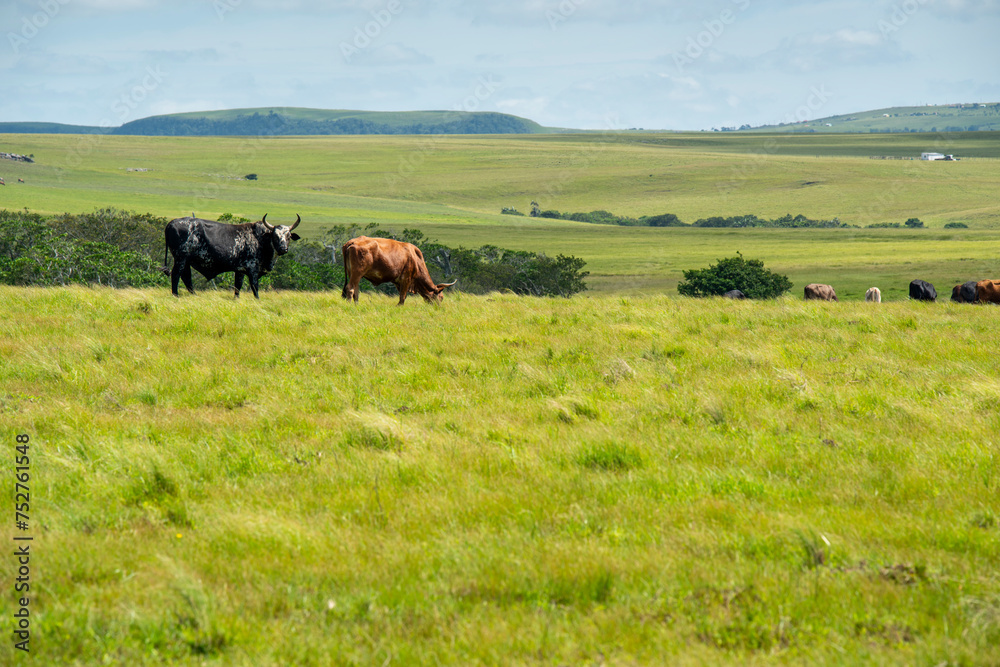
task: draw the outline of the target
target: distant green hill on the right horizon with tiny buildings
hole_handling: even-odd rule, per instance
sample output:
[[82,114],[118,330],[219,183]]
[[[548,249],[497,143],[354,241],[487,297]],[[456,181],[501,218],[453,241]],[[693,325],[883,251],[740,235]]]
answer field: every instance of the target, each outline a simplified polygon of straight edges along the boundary
[[[736,128],[727,128],[736,129]],[[975,132],[1000,130],[1000,103],[890,107],[740,130],[785,132]]]

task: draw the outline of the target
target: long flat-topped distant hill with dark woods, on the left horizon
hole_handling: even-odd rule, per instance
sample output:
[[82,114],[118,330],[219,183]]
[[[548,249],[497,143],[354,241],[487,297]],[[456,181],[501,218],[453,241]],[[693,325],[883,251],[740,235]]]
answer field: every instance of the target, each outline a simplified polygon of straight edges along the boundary
[[120,127],[0,123],[0,133],[232,136],[308,134],[539,134],[538,123],[490,111],[342,111],[273,107],[169,114]]

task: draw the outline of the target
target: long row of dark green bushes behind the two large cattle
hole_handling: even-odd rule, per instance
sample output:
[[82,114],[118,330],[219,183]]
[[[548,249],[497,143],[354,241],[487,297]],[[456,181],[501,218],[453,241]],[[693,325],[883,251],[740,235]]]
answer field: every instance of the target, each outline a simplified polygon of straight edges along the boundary
[[[249,222],[231,214],[222,222]],[[0,283],[8,285],[100,284],[113,287],[169,285],[161,270],[165,258],[163,229],[166,218],[113,208],[81,215],[44,218],[24,211],[0,210]],[[572,296],[586,289],[585,262],[577,257],[506,250],[483,246],[478,250],[450,248],[428,239],[420,230],[402,233],[337,225],[320,241],[298,241],[279,258],[274,270],[261,281],[265,289],[340,289],[344,269],[340,247],[355,236],[382,236],[417,245],[437,282],[458,280],[455,289],[484,294],[509,290],[534,296]],[[173,260],[166,256],[167,267]],[[228,288],[233,274],[223,274],[209,284],[195,272],[195,288]],[[373,289],[367,281],[363,289]],[[382,286],[387,292],[395,288]]]

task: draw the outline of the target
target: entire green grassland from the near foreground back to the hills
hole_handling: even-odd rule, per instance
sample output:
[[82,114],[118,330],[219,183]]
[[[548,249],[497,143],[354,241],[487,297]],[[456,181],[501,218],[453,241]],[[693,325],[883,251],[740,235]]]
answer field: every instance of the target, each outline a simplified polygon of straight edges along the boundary
[[[0,141],[37,160],[0,160],[0,208],[300,213],[591,271],[440,308],[0,287],[34,662],[1000,662],[996,312],[905,300],[1000,274],[996,135]],[[922,150],[976,159],[869,159]],[[499,215],[532,200],[929,228]],[[671,296],[736,251],[792,296]]]

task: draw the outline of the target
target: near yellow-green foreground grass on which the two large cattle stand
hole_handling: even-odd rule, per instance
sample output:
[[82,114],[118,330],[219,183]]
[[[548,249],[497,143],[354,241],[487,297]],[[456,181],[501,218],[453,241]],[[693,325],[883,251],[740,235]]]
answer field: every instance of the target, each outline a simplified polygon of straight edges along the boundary
[[37,664],[1000,662],[992,307],[0,302]]

